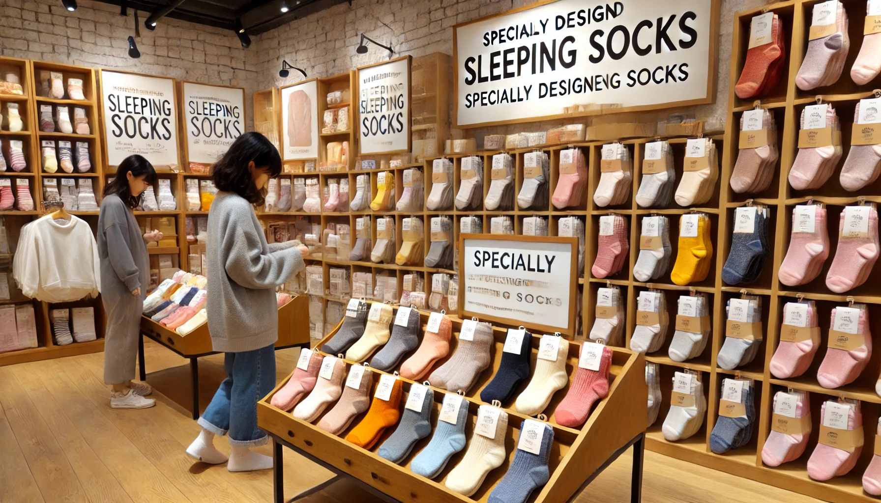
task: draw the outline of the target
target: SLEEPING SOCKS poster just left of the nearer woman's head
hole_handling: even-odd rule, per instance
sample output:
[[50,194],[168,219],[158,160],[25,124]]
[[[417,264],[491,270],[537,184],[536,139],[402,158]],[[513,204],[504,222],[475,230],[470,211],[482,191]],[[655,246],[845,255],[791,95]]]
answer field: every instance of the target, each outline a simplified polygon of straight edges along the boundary
[[208,173],[245,132],[245,90],[181,82],[185,157],[192,173]]

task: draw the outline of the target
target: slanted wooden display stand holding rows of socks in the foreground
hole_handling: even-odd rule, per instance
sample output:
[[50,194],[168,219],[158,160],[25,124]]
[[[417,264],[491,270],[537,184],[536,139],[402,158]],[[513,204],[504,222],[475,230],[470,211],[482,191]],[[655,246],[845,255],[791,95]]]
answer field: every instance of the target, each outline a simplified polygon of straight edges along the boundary
[[[428,320],[428,313],[422,312],[423,330]],[[449,354],[455,352],[455,345],[458,338],[458,330],[462,322],[451,317],[453,322],[453,336],[450,341]],[[337,327],[338,329],[338,327]],[[336,329],[322,340],[317,347],[321,347],[324,341],[336,333]],[[492,376],[496,374],[500,366],[502,347],[505,343],[507,334],[506,329],[493,327],[495,336],[494,348],[492,350],[492,363],[482,374],[478,376],[478,381],[464,395],[468,400],[470,425],[466,427],[466,435],[470,438],[473,434],[473,425],[477,418],[478,406],[485,404],[480,400],[480,390],[483,389],[490,381]],[[534,335],[532,344],[532,368],[535,368],[535,359],[537,358],[537,346],[541,340],[541,335]],[[578,368],[578,354],[581,343],[578,341],[569,342],[569,353],[566,362],[566,370],[569,373],[570,383],[574,378],[575,371]],[[613,378],[611,382],[609,396],[603,401],[597,403],[595,410],[591,413],[588,421],[579,428],[570,428],[556,423],[553,411],[557,405],[566,396],[569,386],[559,390],[552,398],[551,404],[546,411],[550,414],[547,423],[551,425],[554,431],[554,443],[551,451],[550,470],[551,478],[543,488],[537,492],[537,496],[531,500],[540,503],[559,503],[571,499],[585,485],[589,484],[593,477],[596,477],[600,471],[608,466],[618,455],[626,451],[627,448],[633,446],[635,452],[633,455],[633,488],[631,498],[632,501],[640,500],[640,486],[642,473],[642,452],[644,446],[644,435],[647,423],[647,401],[648,391],[645,381],[645,357],[638,353],[622,348],[611,348],[613,351],[612,365],[610,375]],[[440,366],[446,359],[441,359],[435,363],[434,368]],[[347,364],[356,362],[345,360]],[[378,374],[386,374],[370,367],[369,370]],[[406,403],[406,395],[409,393],[413,381],[398,377],[403,381],[404,396],[401,400],[400,407]],[[466,449],[450,458],[446,468],[441,475],[433,480],[426,477],[420,477],[414,474],[410,468],[411,459],[425,448],[430,436],[426,439],[419,440],[411,453],[407,455],[402,464],[398,465],[389,462],[379,455],[376,451],[382,442],[389,437],[395,430],[395,426],[387,428],[382,434],[381,439],[377,440],[374,447],[370,450],[359,448],[354,444],[344,440],[345,434],[357,425],[360,418],[352,421],[352,425],[347,428],[344,434],[340,436],[331,435],[323,431],[317,426],[320,419],[316,419],[313,424],[306,423],[300,419],[293,418],[291,412],[281,411],[270,404],[270,398],[278,389],[282,388],[290,379],[288,377],[278,384],[272,390],[270,395],[265,396],[263,400],[257,403],[257,424],[269,433],[275,441],[273,455],[274,464],[274,484],[275,484],[275,501],[283,503],[286,501],[283,495],[283,477],[284,470],[282,462],[283,446],[292,448],[298,453],[305,455],[312,461],[318,462],[328,470],[337,474],[337,477],[331,478],[327,483],[315,487],[307,492],[300,493],[294,499],[302,498],[307,494],[320,491],[323,487],[332,484],[338,477],[346,477],[366,489],[368,492],[374,493],[377,497],[386,501],[406,501],[406,502],[448,502],[448,501],[485,501],[492,488],[499,482],[501,477],[507,472],[509,463],[514,458],[516,450],[516,440],[519,435],[519,428],[522,420],[529,418],[513,408],[503,408],[507,412],[508,425],[506,433],[506,448],[508,454],[507,462],[503,463],[500,468],[492,470],[486,477],[485,482],[481,485],[478,492],[471,497],[465,497],[458,492],[450,491],[443,484],[444,478],[452,470],[455,465],[462,460]],[[374,376],[374,395],[375,386],[379,382],[379,377]],[[526,387],[526,382],[520,386],[520,390]],[[570,384],[571,385],[571,384]],[[437,417],[443,402],[443,396],[447,391],[440,388],[433,388],[434,391],[434,411],[432,413],[432,424],[436,425]],[[324,412],[327,413],[332,408],[329,406]],[[362,416],[363,417],[363,416]]]

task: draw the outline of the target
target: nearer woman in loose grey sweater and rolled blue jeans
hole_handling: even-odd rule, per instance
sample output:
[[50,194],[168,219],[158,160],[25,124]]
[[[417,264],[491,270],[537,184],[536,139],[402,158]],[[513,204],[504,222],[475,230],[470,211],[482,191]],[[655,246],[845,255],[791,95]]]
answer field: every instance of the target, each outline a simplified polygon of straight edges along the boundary
[[226,353],[226,379],[199,418],[202,433],[187,454],[202,462],[226,462],[214,435],[229,433],[230,471],[272,468],[272,458],[250,448],[268,441],[257,427],[257,400],[276,384],[275,291],[305,265],[308,248],[295,241],[266,244],[254,205],[281,173],[278,150],[260,133],[238,137],[213,167],[218,194],[208,212],[208,331],[214,351]]

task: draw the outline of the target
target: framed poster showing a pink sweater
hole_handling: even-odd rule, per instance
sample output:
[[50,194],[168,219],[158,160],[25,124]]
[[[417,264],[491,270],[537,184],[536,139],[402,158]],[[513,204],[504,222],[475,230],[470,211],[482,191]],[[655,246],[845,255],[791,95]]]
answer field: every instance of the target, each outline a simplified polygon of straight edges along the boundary
[[282,160],[318,159],[318,79],[281,88]]

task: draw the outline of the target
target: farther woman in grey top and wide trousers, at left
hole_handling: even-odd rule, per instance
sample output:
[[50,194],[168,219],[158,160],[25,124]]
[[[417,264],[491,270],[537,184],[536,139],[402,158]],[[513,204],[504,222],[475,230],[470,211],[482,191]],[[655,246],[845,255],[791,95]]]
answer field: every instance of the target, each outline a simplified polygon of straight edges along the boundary
[[144,190],[155,184],[156,172],[150,161],[139,155],[122,159],[114,180],[104,188],[98,216],[101,302],[107,313],[104,382],[112,386],[110,407],[114,409],[146,409],[156,403],[144,398],[152,393],[149,385],[131,381],[150,278],[144,241],[162,239],[159,231],[142,236],[133,211]]

